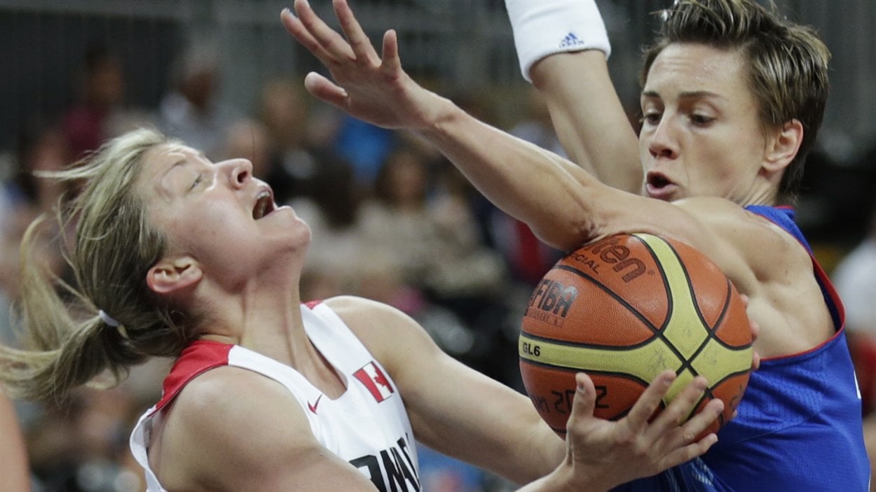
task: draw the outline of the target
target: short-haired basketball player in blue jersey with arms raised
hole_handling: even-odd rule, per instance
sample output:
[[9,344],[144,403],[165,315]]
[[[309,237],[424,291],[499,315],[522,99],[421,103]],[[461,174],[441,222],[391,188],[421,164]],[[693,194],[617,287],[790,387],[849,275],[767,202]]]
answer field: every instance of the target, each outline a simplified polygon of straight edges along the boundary
[[[830,54],[812,30],[748,0],[676,2],[646,57],[638,154],[604,53],[555,54],[528,71],[559,46],[586,47],[586,32],[562,27],[547,49],[524,46],[519,53],[534,59],[523,60],[525,74],[548,96],[576,164],[421,88],[401,68],[395,32],[378,55],[346,1],[334,4],[345,38],[303,0],[297,17],[282,15],[334,79],[308,74],[314,96],[425,137],[548,244],[571,250],[620,232],[673,237],[703,251],[749,297],[764,360],[738,417],[702,459],[619,490],[867,489],[842,305],[792,209],[781,207],[799,183],[828,93]],[[580,17],[568,10],[581,4],[509,0],[519,47],[520,36],[544,34],[543,11],[570,21]]]

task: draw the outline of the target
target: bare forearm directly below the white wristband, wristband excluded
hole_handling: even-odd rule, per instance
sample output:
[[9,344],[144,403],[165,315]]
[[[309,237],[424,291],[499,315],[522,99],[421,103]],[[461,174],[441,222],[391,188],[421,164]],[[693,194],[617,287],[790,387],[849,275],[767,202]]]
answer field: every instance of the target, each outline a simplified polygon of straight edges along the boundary
[[569,158],[606,185],[639,193],[637,137],[611,83],[604,53],[552,54],[535,63],[529,74]]

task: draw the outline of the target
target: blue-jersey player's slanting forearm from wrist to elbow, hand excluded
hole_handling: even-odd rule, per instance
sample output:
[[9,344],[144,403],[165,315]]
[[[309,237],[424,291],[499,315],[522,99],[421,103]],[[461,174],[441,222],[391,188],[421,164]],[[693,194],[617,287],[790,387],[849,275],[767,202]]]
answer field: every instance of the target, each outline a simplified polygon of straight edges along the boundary
[[493,204],[526,222],[544,242],[569,250],[595,233],[599,183],[574,163],[477,121],[451,102],[436,106],[418,133],[436,145]]

